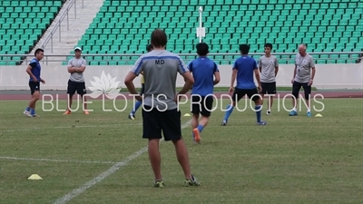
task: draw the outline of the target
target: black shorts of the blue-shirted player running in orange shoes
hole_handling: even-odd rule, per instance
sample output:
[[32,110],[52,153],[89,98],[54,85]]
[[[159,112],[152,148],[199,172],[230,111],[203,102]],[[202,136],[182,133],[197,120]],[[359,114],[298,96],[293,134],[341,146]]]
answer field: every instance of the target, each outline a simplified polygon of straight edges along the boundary
[[193,114],[201,113],[202,116],[211,116],[211,109],[213,106],[212,96],[200,96],[191,94],[191,112]]

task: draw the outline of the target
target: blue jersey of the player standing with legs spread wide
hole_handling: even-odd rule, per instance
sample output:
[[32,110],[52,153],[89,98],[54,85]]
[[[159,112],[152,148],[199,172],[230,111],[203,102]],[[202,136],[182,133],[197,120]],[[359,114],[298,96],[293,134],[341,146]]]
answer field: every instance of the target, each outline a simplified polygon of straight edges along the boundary
[[256,89],[253,81],[254,70],[257,69],[255,59],[243,55],[236,60],[233,69],[237,70],[237,89]]

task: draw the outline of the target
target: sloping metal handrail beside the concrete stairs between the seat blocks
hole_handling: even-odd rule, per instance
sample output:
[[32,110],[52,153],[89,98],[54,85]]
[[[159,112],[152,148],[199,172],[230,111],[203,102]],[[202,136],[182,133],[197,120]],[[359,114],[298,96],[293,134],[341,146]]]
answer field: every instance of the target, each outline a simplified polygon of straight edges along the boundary
[[49,41],[51,41],[51,52],[53,53],[53,36],[54,36],[55,32],[57,32],[57,30],[59,31],[59,42],[61,42],[61,38],[62,38],[61,37],[61,34],[62,34],[61,25],[63,23],[63,20],[64,20],[65,16],[66,16],[67,17],[67,30],[69,30],[69,16],[68,16],[68,14],[69,14],[69,11],[72,9],[73,6],[74,6],[74,19],[76,19],[77,8],[76,8],[76,3],[75,2],[76,2],[75,0],[67,1],[66,4],[68,4],[68,5],[65,8],[64,13],[62,15],[60,15],[60,18],[54,24],[54,27],[51,30],[51,33],[46,36],[46,38],[43,41],[43,44],[40,46],[42,49],[44,49],[45,46],[49,43]]

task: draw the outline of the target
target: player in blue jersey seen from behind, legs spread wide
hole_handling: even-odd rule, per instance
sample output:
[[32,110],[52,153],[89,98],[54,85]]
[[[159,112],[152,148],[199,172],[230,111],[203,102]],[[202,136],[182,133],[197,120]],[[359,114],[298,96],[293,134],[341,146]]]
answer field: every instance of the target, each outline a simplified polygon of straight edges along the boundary
[[[240,99],[247,95],[250,100],[255,102],[255,112],[257,116],[257,124],[265,125],[266,121],[261,121],[261,110],[262,110],[262,98],[260,97],[260,72],[257,67],[257,63],[255,59],[248,56],[250,51],[250,45],[248,44],[240,44],[240,53],[242,54],[239,59],[233,65],[232,78],[231,78],[231,87],[230,93],[232,94],[232,103],[227,106],[227,112],[224,115],[224,119],[221,122],[222,126],[227,125],[227,121],[233,112],[236,103],[240,101]],[[256,89],[256,85],[253,81],[253,74],[256,77],[257,82],[259,83],[259,91]],[[234,89],[234,81],[237,78],[237,86]]]

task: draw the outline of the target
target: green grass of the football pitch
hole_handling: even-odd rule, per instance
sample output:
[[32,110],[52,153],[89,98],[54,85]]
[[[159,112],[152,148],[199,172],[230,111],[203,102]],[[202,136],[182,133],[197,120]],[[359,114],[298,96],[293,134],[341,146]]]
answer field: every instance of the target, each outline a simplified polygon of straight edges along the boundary
[[[152,188],[152,170],[143,153],[69,203],[362,203],[363,100],[323,102],[322,118],[306,117],[305,109],[289,117],[289,112],[278,112],[277,104],[267,116],[264,108],[267,126],[257,126],[249,109],[233,112],[228,126],[221,127],[224,112],[213,112],[201,132],[201,145],[191,142],[191,127],[185,128],[191,170],[201,187],[182,187],[172,143],[162,142],[165,189]],[[0,157],[71,161],[0,158],[2,204],[53,203],[113,166],[72,160],[117,162],[147,143],[142,140],[141,112],[135,121],[127,119],[131,102],[126,112],[103,112],[102,103],[93,101],[90,115],[38,110],[42,117],[32,119],[23,115],[25,105],[0,101]],[[41,102],[37,105],[41,109]],[[119,109],[123,106],[117,102]],[[105,107],[112,109],[112,102]],[[182,106],[182,115],[188,109],[189,104]],[[190,120],[182,117],[182,123]],[[43,180],[27,180],[34,173]]]

